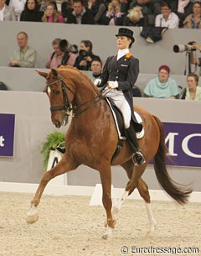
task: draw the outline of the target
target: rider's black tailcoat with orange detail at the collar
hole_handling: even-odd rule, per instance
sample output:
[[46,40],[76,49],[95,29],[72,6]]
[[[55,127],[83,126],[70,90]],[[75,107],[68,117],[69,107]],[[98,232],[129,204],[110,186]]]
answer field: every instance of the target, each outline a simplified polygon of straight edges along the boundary
[[137,123],[133,111],[132,88],[137,81],[139,74],[139,60],[134,58],[131,53],[122,56],[117,60],[117,55],[108,57],[103,67],[101,75],[101,85],[106,85],[107,81],[118,81],[117,90],[122,91],[126,101],[131,107],[132,120],[135,122],[136,131],[142,130],[142,125]]

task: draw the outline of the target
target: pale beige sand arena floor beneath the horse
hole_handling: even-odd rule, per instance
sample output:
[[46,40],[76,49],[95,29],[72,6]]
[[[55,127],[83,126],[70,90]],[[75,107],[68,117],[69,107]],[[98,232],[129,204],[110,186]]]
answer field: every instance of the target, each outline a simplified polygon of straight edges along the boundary
[[[87,196],[42,196],[39,221],[26,223],[32,194],[0,192],[1,256],[201,255],[201,204],[181,207],[153,201],[157,228],[147,237],[143,201],[126,200],[113,237],[103,240],[106,218],[102,206],[89,206]],[[199,253],[131,253],[131,247],[199,248]]]

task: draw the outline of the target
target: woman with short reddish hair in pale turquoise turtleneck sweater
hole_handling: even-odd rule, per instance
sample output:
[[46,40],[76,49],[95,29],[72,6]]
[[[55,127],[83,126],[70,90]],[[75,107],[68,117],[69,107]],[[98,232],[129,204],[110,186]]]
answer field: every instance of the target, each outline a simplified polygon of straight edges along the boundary
[[158,76],[147,83],[144,93],[147,97],[154,98],[178,98],[179,89],[177,82],[169,77],[170,68],[168,65],[161,65],[158,69]]

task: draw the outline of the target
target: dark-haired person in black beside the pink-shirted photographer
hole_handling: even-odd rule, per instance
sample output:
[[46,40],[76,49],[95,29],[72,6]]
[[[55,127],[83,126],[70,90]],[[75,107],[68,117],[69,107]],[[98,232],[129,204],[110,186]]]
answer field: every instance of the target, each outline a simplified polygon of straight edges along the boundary
[[80,51],[79,55],[77,56],[75,60],[75,67],[80,71],[90,71],[90,64],[91,61],[94,59],[100,59],[101,58],[97,55],[94,55],[92,53],[93,44],[90,42],[90,40],[82,40],[80,42]]

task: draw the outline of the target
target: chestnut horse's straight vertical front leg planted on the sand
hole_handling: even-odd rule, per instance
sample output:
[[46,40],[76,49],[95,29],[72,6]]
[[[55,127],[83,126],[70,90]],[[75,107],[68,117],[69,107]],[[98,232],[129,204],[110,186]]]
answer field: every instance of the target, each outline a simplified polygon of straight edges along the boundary
[[112,231],[115,227],[115,222],[111,216],[111,164],[106,163],[101,164],[101,169],[99,169],[101,175],[102,183],[102,203],[106,209],[106,232],[102,238],[106,239],[111,236]]

